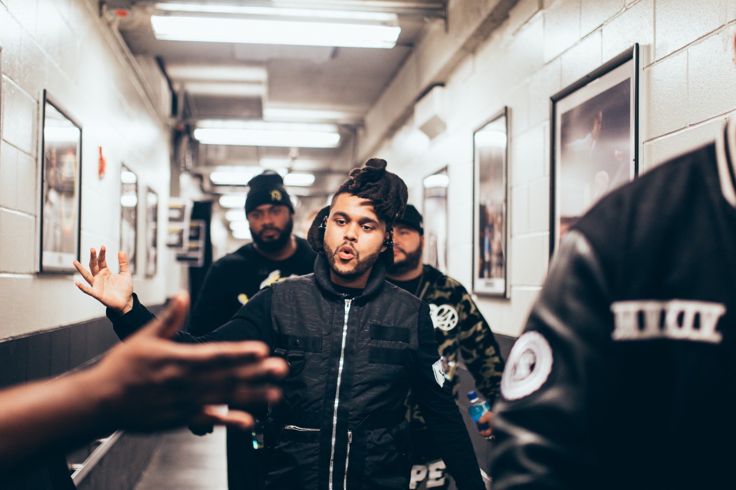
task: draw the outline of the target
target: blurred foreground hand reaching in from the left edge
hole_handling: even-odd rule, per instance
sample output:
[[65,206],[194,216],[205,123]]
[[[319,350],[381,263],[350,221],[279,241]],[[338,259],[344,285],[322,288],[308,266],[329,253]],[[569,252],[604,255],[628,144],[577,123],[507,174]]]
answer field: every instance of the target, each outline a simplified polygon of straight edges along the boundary
[[286,375],[286,362],[269,357],[263,342],[172,342],[187,306],[186,295],[174,296],[159,318],[110,350],[96,367],[97,386],[112,394],[104,412],[114,426],[144,432],[192,422],[250,428],[250,414],[217,405],[280,398],[275,381]]

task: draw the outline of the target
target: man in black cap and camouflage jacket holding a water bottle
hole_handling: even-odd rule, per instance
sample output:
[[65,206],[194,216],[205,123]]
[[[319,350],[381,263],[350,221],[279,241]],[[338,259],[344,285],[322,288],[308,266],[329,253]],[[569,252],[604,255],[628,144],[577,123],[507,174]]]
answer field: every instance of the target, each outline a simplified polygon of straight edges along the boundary
[[[431,265],[422,264],[423,250],[422,215],[408,204],[404,216],[394,223],[394,264],[386,279],[429,303],[439,355],[447,364],[445,377],[455,397],[458,396],[458,386],[453,374],[458,353],[461,353],[464,366],[475,378],[478,392],[493,403],[503,372],[503,359],[493,332],[462,284]],[[414,468],[409,488],[446,489],[450,477],[446,475],[445,463],[439,457],[441,443],[431,439],[411,394],[408,405],[414,438]],[[479,428],[488,425],[491,417],[492,414],[486,412],[478,421]],[[480,433],[490,437],[491,429],[480,430]]]

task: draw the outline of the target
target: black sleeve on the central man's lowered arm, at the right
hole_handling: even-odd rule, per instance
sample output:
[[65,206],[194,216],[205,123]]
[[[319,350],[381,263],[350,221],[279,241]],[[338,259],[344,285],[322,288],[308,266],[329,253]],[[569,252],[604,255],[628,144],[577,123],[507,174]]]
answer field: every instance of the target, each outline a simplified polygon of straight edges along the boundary
[[436,379],[434,364],[439,362],[439,354],[426,303],[422,303],[420,310],[418,335],[419,350],[417,358],[413,360],[411,390],[458,489],[484,490],[486,487],[481,479],[473,443],[470,442],[455,398],[449,386],[440,386]]

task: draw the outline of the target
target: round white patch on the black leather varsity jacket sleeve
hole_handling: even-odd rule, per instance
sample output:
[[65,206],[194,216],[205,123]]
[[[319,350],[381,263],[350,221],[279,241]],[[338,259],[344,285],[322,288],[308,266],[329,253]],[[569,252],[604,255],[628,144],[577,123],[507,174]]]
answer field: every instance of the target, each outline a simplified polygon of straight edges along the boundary
[[552,371],[552,348],[542,334],[526,332],[519,337],[509,354],[501,378],[501,394],[506,400],[518,400],[536,392]]

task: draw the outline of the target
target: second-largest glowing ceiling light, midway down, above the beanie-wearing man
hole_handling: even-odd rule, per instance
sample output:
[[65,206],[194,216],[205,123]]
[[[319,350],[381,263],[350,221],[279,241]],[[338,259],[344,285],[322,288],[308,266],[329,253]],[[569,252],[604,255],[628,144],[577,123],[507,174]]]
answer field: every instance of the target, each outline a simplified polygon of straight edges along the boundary
[[202,121],[194,139],[204,145],[337,148],[340,134],[330,124],[263,123],[261,121]]

